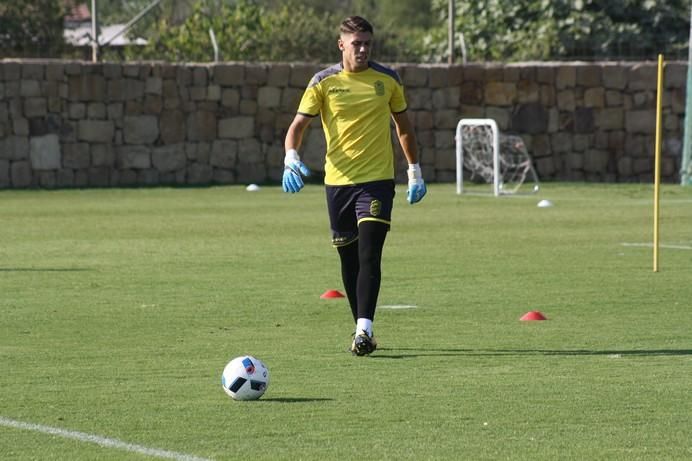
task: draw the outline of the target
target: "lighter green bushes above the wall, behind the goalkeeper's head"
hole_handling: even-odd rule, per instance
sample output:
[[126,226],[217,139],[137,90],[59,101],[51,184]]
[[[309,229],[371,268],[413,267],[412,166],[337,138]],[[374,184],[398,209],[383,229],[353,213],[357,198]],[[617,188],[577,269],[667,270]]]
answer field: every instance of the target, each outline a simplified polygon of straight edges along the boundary
[[[149,45],[128,50],[128,58],[211,60],[212,29],[222,60],[334,62],[339,59],[338,25],[352,11],[325,7],[330,3],[344,2],[197,0],[192,14],[181,24],[160,15],[149,28]],[[405,16],[412,15],[420,24],[427,24],[426,14],[413,12],[429,11],[425,7],[430,0],[350,3],[353,11],[375,24],[375,59],[415,61],[423,53],[426,29],[408,25]]]

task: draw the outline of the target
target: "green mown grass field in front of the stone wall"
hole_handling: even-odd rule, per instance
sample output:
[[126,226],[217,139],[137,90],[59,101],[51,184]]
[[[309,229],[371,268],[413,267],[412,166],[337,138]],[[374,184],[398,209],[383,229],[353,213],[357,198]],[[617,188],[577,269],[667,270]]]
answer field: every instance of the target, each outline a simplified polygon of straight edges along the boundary
[[[68,431],[182,460],[690,459],[692,188],[662,189],[658,273],[652,199],[398,189],[359,358],[319,298],[319,186],[0,192],[0,459],[149,459]],[[259,401],[221,389],[242,354]]]

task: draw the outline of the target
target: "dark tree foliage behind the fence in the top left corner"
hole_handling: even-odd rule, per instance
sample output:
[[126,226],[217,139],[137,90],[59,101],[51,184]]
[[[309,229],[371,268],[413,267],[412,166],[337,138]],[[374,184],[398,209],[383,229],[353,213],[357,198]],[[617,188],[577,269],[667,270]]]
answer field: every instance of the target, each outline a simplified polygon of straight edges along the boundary
[[61,0],[0,0],[0,50],[8,56],[59,57],[65,49]]

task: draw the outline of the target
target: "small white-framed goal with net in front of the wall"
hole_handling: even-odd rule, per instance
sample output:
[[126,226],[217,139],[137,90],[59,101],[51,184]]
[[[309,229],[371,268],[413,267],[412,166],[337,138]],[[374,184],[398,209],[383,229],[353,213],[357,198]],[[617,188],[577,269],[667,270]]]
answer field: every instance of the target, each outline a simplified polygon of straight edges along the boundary
[[538,175],[521,137],[500,133],[495,120],[461,119],[456,131],[457,194],[469,180],[492,184],[495,196],[538,192]]

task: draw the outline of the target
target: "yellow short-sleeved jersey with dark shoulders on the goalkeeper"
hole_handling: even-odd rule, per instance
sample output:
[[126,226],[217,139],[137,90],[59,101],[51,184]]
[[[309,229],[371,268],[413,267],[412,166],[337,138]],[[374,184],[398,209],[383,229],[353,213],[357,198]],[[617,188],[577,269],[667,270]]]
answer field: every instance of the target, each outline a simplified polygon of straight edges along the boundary
[[394,178],[391,115],[406,110],[399,75],[376,62],[361,72],[341,63],[315,74],[298,113],[321,116],[327,141],[324,182],[331,186]]

